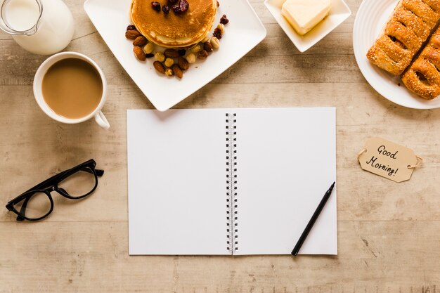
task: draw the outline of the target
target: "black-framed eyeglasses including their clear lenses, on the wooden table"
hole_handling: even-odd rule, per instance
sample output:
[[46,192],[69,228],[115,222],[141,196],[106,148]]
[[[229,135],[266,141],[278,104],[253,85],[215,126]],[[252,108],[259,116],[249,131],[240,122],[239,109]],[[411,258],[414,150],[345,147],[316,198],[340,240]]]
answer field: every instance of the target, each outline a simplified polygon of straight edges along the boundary
[[17,221],[44,219],[53,211],[52,191],[70,200],[79,200],[96,190],[98,176],[103,176],[104,170],[95,169],[95,166],[95,160],[89,159],[62,171],[15,197],[6,204],[6,209],[18,215]]

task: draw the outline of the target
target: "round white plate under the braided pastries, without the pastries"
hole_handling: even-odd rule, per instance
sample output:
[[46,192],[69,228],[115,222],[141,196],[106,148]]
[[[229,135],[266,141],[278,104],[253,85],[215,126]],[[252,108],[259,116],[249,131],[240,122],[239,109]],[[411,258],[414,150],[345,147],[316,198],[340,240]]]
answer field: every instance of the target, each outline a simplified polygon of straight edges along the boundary
[[365,56],[392,14],[399,0],[363,0],[356,13],[353,28],[353,49],[356,62],[373,89],[392,102],[414,109],[440,108],[440,98],[424,100],[406,89],[396,77],[373,65]]

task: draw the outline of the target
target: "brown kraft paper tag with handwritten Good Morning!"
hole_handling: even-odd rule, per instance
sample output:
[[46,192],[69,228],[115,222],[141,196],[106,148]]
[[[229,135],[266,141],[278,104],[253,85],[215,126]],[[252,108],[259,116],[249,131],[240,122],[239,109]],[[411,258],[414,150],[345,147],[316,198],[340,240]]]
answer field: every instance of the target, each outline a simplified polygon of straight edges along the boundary
[[365,171],[396,182],[409,180],[414,168],[422,164],[410,148],[378,137],[366,141],[358,160]]

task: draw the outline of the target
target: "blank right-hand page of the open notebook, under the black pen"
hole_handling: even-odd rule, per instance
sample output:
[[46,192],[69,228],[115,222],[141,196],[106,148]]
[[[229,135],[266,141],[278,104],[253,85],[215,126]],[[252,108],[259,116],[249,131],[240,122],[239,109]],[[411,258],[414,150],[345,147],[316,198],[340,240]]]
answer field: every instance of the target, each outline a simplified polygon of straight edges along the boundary
[[[238,109],[238,248],[290,254],[336,180],[335,108]],[[336,190],[300,254],[337,254]]]

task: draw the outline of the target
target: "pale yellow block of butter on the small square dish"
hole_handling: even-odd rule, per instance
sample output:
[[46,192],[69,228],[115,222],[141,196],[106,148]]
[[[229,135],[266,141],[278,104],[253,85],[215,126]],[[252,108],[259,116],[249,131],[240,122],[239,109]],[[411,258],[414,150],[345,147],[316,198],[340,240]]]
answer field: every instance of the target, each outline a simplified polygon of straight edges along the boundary
[[331,0],[286,0],[281,14],[298,34],[304,35],[328,15]]

